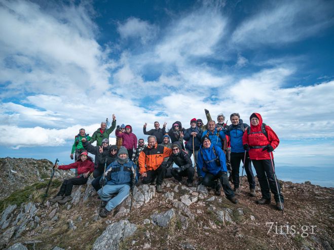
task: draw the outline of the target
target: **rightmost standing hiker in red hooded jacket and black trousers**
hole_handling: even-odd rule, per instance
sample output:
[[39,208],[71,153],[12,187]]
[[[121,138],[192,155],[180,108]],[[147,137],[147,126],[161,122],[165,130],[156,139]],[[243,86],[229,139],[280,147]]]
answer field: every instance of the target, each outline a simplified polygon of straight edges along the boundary
[[[243,147],[249,150],[249,158],[252,160],[257,179],[261,187],[262,198],[257,200],[257,204],[270,204],[271,194],[274,194],[276,207],[282,211],[284,209],[284,198],[281,194],[279,182],[275,183],[275,177],[271,163],[271,157],[274,164],[273,151],[279,144],[279,139],[275,132],[263,123],[261,114],[252,113],[249,117],[250,128],[245,131],[242,138]],[[270,157],[271,155],[271,157]],[[277,185],[277,187],[276,187]],[[277,192],[278,189],[278,192]],[[282,202],[280,205],[279,200]]]

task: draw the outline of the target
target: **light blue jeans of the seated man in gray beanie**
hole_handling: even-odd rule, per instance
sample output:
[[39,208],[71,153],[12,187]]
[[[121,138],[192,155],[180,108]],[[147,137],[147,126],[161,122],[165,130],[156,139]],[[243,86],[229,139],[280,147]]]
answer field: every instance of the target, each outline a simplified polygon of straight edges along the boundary
[[[98,190],[98,194],[101,200],[107,201],[105,209],[107,211],[112,211],[116,206],[121,204],[129,196],[130,186],[127,184],[122,185],[105,185],[103,188]],[[114,198],[110,195],[118,193]]]

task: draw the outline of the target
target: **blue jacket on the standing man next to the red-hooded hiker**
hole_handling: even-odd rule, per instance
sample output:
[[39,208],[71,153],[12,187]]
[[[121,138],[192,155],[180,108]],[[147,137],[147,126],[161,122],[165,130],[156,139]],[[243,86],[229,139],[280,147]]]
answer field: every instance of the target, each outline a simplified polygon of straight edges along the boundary
[[245,132],[245,128],[249,127],[248,124],[243,123],[242,119],[239,120],[238,125],[231,124],[225,133],[231,139],[231,152],[233,153],[243,153],[245,152],[242,146],[242,137]]

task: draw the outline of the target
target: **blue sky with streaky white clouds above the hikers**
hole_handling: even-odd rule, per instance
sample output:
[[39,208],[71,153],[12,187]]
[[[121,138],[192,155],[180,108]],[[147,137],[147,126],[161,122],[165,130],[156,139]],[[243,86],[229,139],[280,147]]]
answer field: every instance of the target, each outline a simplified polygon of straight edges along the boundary
[[0,157],[69,163],[79,129],[112,114],[146,140],[144,122],[187,129],[206,108],[261,113],[276,162],[333,166],[333,13],[330,0],[0,0]]

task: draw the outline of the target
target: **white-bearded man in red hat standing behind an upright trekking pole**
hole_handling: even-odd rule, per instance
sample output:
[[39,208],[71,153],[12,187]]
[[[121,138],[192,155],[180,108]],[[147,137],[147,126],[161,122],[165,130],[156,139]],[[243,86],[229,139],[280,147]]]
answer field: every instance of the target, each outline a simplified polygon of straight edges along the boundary
[[190,128],[184,131],[183,136],[183,140],[186,142],[185,150],[188,151],[189,158],[194,153],[195,162],[197,162],[198,150],[200,149],[203,134],[203,131],[197,127],[196,121],[196,118],[190,120]]

